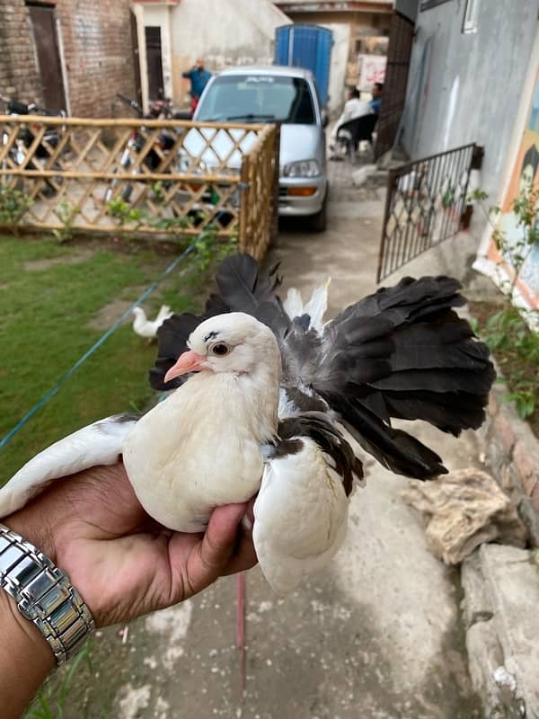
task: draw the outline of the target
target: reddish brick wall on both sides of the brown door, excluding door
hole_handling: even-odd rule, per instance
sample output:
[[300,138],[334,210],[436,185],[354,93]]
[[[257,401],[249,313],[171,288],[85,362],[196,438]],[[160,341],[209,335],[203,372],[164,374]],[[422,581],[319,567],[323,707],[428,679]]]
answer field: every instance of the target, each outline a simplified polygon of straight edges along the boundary
[[[136,96],[129,0],[57,0],[71,114],[110,117],[115,93]],[[42,102],[24,0],[0,0],[0,93]]]

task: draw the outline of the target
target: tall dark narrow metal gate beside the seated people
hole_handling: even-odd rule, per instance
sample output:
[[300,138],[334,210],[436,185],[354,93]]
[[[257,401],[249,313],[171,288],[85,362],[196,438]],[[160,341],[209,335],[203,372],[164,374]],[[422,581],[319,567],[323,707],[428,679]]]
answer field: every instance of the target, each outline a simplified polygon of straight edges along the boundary
[[382,109],[378,119],[375,159],[393,147],[406,99],[414,23],[393,11],[387,66],[385,69]]

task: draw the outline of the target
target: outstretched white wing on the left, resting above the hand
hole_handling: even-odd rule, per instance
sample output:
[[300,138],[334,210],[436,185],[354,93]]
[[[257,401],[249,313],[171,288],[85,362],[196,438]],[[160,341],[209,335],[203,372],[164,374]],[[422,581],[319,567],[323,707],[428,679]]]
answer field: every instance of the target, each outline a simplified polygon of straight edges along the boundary
[[122,419],[122,415],[107,417],[43,449],[0,489],[0,517],[20,510],[54,479],[91,466],[113,465],[136,423],[137,420]]

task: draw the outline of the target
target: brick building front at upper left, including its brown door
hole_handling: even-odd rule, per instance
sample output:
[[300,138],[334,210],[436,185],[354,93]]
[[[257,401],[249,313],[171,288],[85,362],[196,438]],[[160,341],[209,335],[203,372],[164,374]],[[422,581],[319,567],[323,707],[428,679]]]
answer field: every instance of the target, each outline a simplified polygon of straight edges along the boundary
[[0,0],[0,93],[79,117],[136,96],[129,0]]

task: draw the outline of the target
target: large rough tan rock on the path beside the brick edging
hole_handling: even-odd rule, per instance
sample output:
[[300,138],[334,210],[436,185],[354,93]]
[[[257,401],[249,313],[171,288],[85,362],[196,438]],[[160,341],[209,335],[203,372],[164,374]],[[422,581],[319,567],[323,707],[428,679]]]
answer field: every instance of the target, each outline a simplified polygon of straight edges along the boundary
[[446,564],[460,564],[485,542],[526,546],[526,528],[496,480],[474,467],[433,482],[413,480],[402,499],[426,524],[429,549]]

